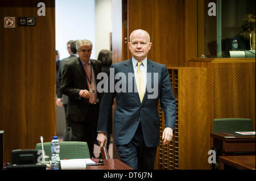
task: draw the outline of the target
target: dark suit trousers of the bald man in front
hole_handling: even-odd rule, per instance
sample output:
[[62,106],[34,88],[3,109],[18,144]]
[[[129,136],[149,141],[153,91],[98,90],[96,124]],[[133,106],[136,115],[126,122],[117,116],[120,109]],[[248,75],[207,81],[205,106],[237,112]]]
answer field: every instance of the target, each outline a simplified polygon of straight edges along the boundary
[[129,144],[116,146],[121,161],[126,165],[139,170],[154,169],[157,147],[148,148],[144,144],[141,123]]

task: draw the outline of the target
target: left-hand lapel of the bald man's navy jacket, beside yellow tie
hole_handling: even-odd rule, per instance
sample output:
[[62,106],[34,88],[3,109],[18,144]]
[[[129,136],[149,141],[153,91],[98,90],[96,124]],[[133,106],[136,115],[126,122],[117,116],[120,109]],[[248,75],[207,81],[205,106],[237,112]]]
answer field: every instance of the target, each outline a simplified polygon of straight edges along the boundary
[[125,64],[124,64],[124,72],[126,74],[126,80],[127,80],[127,89],[129,89],[130,87],[133,87],[133,95],[135,96],[135,99],[137,100],[138,104],[141,104],[141,100],[139,99],[139,94],[138,92],[135,92],[134,90],[137,90],[137,87],[136,87],[136,82],[135,82],[135,79],[134,79],[134,76],[133,76],[133,80],[132,82],[129,82],[129,76],[128,76],[128,73],[133,73],[134,74],[134,69],[133,69],[133,61],[131,61],[131,58],[129,61],[127,61]]

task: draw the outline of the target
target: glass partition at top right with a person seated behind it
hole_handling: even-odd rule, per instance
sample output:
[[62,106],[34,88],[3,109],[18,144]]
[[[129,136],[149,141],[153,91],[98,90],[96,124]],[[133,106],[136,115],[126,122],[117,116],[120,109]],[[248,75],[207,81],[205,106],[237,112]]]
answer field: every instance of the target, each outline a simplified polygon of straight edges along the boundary
[[[199,57],[255,57],[255,0],[198,0],[198,17],[202,11],[204,18],[198,23],[204,27],[198,26],[198,37],[204,39],[198,38]],[[234,38],[237,47],[236,43],[232,47]]]

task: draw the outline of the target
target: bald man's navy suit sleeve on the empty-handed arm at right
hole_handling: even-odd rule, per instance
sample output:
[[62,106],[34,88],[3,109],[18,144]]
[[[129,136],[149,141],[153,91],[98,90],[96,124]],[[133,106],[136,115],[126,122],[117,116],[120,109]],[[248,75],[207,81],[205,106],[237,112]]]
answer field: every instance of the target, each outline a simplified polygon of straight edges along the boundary
[[166,66],[164,65],[163,79],[160,89],[160,104],[164,111],[165,125],[175,130],[175,119],[176,119],[176,103],[174,92],[170,82],[170,77]]

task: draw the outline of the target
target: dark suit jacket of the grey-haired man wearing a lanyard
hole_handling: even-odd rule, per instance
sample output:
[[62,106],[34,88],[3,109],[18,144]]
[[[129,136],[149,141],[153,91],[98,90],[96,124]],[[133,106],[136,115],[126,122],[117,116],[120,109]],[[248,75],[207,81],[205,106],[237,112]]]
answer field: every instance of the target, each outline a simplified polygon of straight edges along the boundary
[[[96,78],[97,74],[101,72],[101,62],[93,59],[90,59],[90,62]],[[97,83],[99,81],[100,80],[96,79]],[[77,57],[64,65],[63,78],[60,86],[60,91],[68,96],[68,120],[76,122],[85,120],[89,99],[80,98],[79,96],[80,90],[84,89],[89,90],[88,83],[86,81],[84,67]],[[101,94],[99,92],[97,92],[97,96],[101,99]]]

